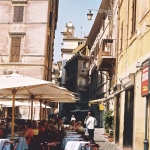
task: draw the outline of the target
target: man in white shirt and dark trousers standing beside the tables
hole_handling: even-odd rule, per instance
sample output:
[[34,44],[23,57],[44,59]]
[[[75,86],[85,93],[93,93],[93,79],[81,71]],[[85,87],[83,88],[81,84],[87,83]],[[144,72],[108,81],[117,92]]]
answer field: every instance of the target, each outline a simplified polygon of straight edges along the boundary
[[91,142],[94,142],[94,124],[95,124],[96,118],[93,117],[93,113],[90,113],[89,118],[86,121],[86,125],[88,128],[89,138]]

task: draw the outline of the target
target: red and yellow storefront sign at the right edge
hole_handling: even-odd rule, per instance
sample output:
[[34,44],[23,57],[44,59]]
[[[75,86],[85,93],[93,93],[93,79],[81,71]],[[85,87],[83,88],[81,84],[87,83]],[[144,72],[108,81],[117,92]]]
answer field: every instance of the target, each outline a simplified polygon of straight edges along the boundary
[[141,95],[146,96],[149,94],[150,91],[150,85],[149,85],[149,63],[150,60],[148,59],[143,63],[142,68],[142,76],[141,76]]

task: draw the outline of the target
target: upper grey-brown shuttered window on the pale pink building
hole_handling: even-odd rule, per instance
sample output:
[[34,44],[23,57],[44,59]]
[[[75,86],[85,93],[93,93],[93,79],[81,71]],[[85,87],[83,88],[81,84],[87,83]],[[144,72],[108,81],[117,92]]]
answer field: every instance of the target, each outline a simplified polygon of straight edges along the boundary
[[24,6],[15,6],[14,7],[14,22],[22,22],[23,21],[23,11],[24,11]]

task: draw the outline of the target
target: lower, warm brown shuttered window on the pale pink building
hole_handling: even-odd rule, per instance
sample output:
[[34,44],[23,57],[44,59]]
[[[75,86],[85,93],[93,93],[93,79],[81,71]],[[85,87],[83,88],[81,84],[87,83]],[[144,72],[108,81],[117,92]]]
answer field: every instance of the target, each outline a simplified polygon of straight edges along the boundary
[[19,62],[21,37],[13,37],[11,44],[10,62]]

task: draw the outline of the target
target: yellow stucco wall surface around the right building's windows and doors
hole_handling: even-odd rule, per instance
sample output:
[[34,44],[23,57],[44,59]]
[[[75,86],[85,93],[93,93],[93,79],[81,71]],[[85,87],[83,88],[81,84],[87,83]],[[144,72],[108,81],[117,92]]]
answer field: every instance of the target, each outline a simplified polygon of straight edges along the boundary
[[[129,12],[127,4],[129,1],[123,1],[120,6],[120,27],[123,22],[123,49],[118,55],[118,83],[119,78],[128,76],[130,73],[135,73],[134,84],[134,115],[133,115],[133,150],[143,149],[143,141],[145,134],[145,102],[146,98],[141,97],[141,69],[136,68],[137,62],[142,63],[150,56],[150,29],[146,26],[150,22],[150,14],[146,13],[145,17],[141,20],[141,2],[137,1],[136,12],[136,32],[131,34],[131,15],[132,15],[132,1],[129,2]],[[145,3],[149,3],[145,0]],[[147,9],[145,5],[142,9]],[[145,7],[146,6],[146,7]],[[150,7],[148,8],[150,9]],[[125,13],[126,12],[126,13]],[[119,36],[119,39],[121,37]],[[120,44],[119,44],[120,47]],[[121,107],[124,107],[124,97],[121,95]],[[120,123],[120,144],[123,146],[123,109],[121,109],[121,123]],[[149,115],[148,115],[149,118]],[[149,119],[148,119],[149,120]],[[149,122],[149,121],[148,121]],[[149,124],[149,123],[148,123]],[[149,128],[148,134],[150,135]],[[148,136],[149,136],[148,135]],[[150,141],[149,141],[150,142]]]

